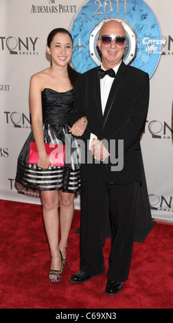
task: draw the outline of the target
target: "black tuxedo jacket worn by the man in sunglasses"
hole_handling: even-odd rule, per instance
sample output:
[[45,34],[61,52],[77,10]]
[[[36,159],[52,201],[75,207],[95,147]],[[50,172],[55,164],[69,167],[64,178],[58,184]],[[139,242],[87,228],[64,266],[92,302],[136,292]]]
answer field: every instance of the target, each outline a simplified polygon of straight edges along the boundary
[[[120,65],[108,96],[104,115],[100,97],[100,79],[97,67],[81,74],[76,83],[75,101],[69,115],[71,125],[86,115],[88,126],[82,137],[78,137],[83,149],[81,177],[84,181],[97,183],[132,183],[141,181],[142,157],[140,136],[143,132],[149,101],[148,74],[125,65]],[[89,151],[91,133],[98,139],[115,144],[118,155],[118,140],[124,141],[124,166],[112,170],[115,158],[111,155],[105,164],[95,161]],[[112,146],[113,147],[113,146]],[[109,151],[111,146],[109,146]],[[122,157],[122,155],[121,155]]]

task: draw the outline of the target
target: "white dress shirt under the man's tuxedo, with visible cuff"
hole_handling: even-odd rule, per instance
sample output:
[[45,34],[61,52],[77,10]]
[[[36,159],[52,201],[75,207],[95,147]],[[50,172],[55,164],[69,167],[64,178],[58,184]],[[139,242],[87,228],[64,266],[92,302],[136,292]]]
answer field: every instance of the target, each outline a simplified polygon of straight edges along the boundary
[[[122,62],[120,62],[118,65],[113,67],[113,70],[115,71],[115,75],[117,74],[117,71],[119,69],[119,66]],[[101,63],[101,69],[104,69],[102,63]],[[105,69],[104,69],[105,71]],[[101,103],[102,103],[102,113],[104,115],[104,109],[106,107],[106,102],[108,100],[108,95],[111,90],[111,86],[113,85],[114,78],[111,78],[110,76],[106,75],[104,78],[100,79],[100,95],[101,95]],[[97,139],[97,136],[91,133],[90,135],[90,141],[89,141],[89,147],[91,146],[91,141],[93,138]]]

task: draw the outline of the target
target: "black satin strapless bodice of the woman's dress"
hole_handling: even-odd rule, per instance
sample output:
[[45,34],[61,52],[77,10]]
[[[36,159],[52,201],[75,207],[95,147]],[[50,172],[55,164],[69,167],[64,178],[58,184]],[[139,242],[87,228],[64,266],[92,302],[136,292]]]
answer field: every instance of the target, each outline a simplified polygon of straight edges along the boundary
[[43,124],[69,124],[69,111],[73,107],[73,91],[57,92],[44,89],[41,92]]

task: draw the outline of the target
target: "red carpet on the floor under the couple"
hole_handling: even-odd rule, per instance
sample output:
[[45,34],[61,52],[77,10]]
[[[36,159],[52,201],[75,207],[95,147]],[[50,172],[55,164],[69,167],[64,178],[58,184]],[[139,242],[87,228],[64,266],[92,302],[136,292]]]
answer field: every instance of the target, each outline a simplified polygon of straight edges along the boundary
[[[62,279],[47,277],[50,256],[41,205],[0,201],[1,309],[172,309],[171,224],[157,223],[143,243],[135,243],[130,275],[117,296],[106,296],[106,272],[82,285],[69,281],[79,269],[80,212],[74,214]],[[108,250],[104,246],[105,267]]]

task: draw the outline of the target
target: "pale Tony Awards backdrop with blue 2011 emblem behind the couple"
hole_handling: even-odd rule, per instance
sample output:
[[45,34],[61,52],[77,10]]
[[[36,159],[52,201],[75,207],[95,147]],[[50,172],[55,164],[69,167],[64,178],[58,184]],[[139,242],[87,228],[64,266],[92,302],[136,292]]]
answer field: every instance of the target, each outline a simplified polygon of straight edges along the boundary
[[[73,67],[83,73],[100,65],[98,32],[104,21],[116,19],[126,29],[124,63],[150,76],[141,146],[152,218],[173,221],[172,10],[172,0],[0,0],[0,199],[41,203],[36,194],[18,194],[14,178],[31,131],[30,77],[50,64],[47,35],[55,27],[71,32]],[[80,208],[80,197],[75,205]]]

